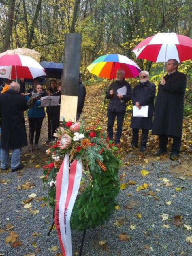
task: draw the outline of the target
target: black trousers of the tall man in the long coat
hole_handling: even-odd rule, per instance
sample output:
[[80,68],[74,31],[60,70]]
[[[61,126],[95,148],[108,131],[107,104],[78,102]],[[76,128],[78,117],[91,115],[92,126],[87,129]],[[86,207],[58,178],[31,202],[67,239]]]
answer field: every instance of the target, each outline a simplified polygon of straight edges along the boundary
[[180,147],[181,147],[181,138],[176,136],[169,136],[169,135],[159,135],[159,148],[163,151],[167,150],[168,138],[173,138],[172,144],[172,153],[179,154]]

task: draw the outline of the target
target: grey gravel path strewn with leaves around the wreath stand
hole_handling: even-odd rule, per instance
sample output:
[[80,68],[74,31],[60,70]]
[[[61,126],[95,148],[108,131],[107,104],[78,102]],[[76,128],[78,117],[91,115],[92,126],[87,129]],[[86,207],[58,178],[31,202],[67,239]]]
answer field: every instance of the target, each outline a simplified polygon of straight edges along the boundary
[[[37,156],[30,158],[31,163],[18,173],[0,172],[0,255],[61,255],[56,230],[47,236],[53,221],[52,209],[42,200],[46,196],[40,178],[42,168],[34,167],[38,163],[43,165],[42,158],[46,156],[39,154],[39,160]],[[22,158],[24,163],[28,161],[25,157],[28,154]],[[189,227],[192,212],[190,177],[171,172],[179,162],[154,159],[142,166],[129,162],[133,157],[134,152],[128,153],[124,160],[127,164],[120,169],[120,183],[125,188],[117,198],[119,209],[105,226],[86,231],[82,256],[192,255],[191,244],[186,241],[186,237],[192,236]],[[141,170],[149,174],[143,176]],[[136,184],[129,185],[130,180]],[[29,186],[26,182],[32,182],[32,188],[18,187],[25,184],[26,188]],[[148,188],[137,192],[138,186],[144,183]],[[28,202],[31,208],[24,208],[22,201],[29,199],[32,193],[36,197]],[[136,214],[141,214],[141,218]],[[163,221],[161,214],[168,214],[168,220]],[[189,230],[174,226],[172,220],[176,215],[183,217]],[[22,246],[13,248],[11,242],[5,242],[11,231],[19,235],[16,241],[21,241]],[[74,255],[78,255],[81,239],[82,232],[72,231]],[[54,249],[57,250],[52,252]]]

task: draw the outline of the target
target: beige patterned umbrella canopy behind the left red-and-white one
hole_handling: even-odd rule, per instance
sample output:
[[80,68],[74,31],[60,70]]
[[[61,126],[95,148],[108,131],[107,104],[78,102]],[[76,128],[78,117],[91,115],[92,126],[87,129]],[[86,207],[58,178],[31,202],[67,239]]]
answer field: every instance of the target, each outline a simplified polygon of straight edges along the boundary
[[6,54],[20,54],[20,55],[29,56],[34,60],[36,60],[37,62],[39,62],[41,58],[41,54],[39,52],[36,52],[28,48],[17,48],[17,49],[7,50],[6,52],[2,52],[0,54],[0,57]]

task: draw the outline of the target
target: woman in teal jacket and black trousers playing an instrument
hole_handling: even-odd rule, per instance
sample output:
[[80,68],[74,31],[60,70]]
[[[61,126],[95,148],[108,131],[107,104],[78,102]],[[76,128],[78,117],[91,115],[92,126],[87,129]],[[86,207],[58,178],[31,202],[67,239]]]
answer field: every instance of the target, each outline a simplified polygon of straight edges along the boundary
[[[30,141],[30,148],[29,151],[33,150],[33,140],[34,140],[34,132],[35,132],[35,145],[34,149],[40,149],[38,146],[41,127],[43,123],[43,119],[45,118],[45,110],[44,107],[40,107],[41,100],[40,98],[45,95],[45,91],[43,91],[42,85],[37,84],[35,85],[32,96],[35,96],[36,101],[34,105],[28,110],[28,118],[29,118],[29,141]],[[26,96],[26,100],[28,101],[30,95]]]

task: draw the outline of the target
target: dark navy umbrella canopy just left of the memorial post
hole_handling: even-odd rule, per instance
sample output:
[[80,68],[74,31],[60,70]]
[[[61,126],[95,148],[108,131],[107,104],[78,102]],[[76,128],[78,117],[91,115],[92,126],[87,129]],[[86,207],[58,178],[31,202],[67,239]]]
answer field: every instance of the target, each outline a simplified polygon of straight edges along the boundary
[[44,68],[48,78],[62,78],[63,63],[42,61],[40,65]]

